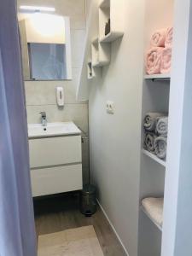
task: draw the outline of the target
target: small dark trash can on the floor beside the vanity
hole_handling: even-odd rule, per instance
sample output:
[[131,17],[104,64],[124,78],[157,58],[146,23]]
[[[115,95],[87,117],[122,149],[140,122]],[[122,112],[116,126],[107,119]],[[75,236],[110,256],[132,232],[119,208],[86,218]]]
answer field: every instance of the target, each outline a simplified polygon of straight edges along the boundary
[[86,217],[96,212],[96,187],[94,185],[84,185],[80,196],[80,212]]

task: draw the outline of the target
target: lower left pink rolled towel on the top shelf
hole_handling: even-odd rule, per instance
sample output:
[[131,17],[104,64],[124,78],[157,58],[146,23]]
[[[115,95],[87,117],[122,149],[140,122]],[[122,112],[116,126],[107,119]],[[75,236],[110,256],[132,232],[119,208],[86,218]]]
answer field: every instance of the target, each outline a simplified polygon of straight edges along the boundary
[[163,49],[163,47],[154,47],[148,50],[146,57],[146,73],[160,73],[161,53]]

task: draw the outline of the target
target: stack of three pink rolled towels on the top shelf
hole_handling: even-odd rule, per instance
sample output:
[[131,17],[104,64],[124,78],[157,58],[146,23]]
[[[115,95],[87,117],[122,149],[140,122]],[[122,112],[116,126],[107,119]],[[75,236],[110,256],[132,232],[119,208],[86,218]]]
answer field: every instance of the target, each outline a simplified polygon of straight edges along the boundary
[[170,73],[172,65],[173,28],[160,29],[151,37],[146,56],[146,73]]

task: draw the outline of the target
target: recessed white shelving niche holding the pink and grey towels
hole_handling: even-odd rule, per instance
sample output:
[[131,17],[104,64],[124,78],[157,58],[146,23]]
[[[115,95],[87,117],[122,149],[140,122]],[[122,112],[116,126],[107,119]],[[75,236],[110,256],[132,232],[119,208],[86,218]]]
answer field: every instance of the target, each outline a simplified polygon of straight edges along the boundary
[[[174,0],[145,1],[144,52],[147,52],[149,48],[153,32],[163,27],[172,26],[173,5]],[[142,122],[148,112],[168,113],[171,79],[170,73],[143,74]],[[142,201],[143,198],[148,196],[159,197],[164,195],[166,161],[160,160],[155,154],[143,149],[143,127],[141,134],[140,200]],[[138,256],[159,256],[163,229],[160,226],[158,227],[159,230],[156,229],[157,224],[153,222],[154,226],[148,221],[148,218],[146,218],[148,212],[140,211],[139,214]]]

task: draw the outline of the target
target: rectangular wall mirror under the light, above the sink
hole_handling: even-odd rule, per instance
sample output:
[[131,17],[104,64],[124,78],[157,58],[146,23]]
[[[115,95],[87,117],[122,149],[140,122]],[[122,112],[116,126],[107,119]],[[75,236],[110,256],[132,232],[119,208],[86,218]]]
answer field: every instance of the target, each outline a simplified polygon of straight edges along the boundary
[[72,79],[69,18],[42,13],[18,16],[24,80]]

